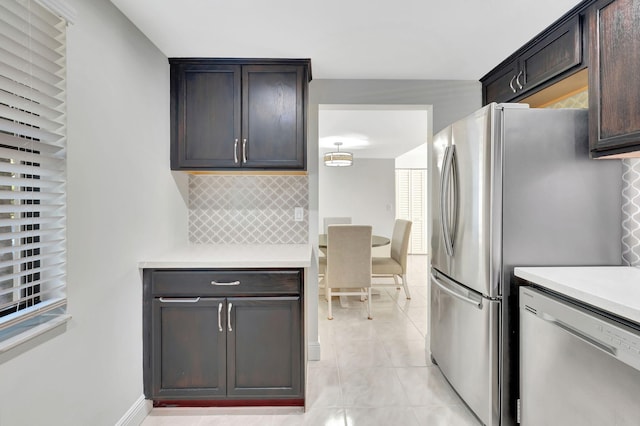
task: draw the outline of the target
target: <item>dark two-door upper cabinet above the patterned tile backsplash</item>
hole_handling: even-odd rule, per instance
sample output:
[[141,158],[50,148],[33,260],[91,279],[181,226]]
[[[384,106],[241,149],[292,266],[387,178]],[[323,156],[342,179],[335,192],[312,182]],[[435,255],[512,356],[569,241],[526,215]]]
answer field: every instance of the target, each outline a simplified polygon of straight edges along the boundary
[[172,170],[305,170],[308,59],[171,58]]

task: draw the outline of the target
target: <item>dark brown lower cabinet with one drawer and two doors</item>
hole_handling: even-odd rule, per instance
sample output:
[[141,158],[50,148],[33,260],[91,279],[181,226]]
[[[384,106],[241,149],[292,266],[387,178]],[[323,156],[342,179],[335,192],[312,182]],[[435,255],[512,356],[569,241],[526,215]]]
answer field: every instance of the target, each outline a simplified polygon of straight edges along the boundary
[[[145,270],[145,397],[156,406],[302,405],[302,271],[287,272],[227,271],[221,282],[202,270]],[[221,292],[230,296],[214,297]]]

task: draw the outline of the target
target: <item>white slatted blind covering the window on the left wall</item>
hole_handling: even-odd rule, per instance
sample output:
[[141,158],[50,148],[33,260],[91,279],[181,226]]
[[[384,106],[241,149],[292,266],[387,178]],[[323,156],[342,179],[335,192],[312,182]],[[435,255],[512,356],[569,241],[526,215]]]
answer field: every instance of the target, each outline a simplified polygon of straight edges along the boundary
[[0,0],[0,340],[66,310],[65,26]]

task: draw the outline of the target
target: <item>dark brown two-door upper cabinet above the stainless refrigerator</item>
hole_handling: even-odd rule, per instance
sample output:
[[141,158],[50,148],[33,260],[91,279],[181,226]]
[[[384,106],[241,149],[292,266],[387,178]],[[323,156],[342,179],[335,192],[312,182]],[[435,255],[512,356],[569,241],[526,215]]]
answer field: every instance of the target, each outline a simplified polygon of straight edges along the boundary
[[482,100],[519,101],[586,66],[582,16],[566,16],[480,79]]

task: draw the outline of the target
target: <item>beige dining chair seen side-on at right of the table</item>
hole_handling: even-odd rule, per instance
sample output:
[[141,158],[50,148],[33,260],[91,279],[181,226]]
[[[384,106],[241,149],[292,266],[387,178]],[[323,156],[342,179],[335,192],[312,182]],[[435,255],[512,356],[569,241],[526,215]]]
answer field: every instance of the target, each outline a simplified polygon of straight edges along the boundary
[[407,282],[407,254],[409,252],[409,237],[411,236],[411,221],[396,219],[393,225],[393,235],[391,236],[390,256],[374,257],[371,259],[372,275],[374,277],[393,277],[395,284],[374,283],[373,286],[395,285],[399,290],[402,279],[407,299],[411,299],[409,285]]

